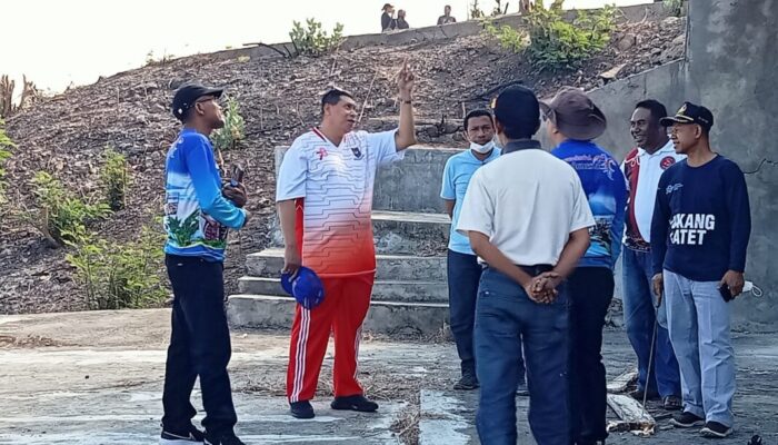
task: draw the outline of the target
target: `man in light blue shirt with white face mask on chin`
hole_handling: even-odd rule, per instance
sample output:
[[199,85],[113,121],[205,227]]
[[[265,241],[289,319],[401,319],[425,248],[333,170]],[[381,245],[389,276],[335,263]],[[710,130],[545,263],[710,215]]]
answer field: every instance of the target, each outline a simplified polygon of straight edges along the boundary
[[[451,235],[448,244],[448,293],[451,333],[457,343],[461,360],[461,378],[455,389],[476,389],[476,359],[472,352],[472,329],[476,315],[476,296],[481,278],[481,265],[470,248],[467,236],[455,230],[459,211],[465,199],[470,177],[481,166],[497,159],[500,149],[495,147],[495,123],[487,110],[473,110],[465,117],[465,136],[470,149],[448,159],[443,170],[443,184],[440,197],[446,204],[446,211],[451,217]],[[521,373],[523,376],[523,372]],[[520,383],[523,389],[523,383]]]

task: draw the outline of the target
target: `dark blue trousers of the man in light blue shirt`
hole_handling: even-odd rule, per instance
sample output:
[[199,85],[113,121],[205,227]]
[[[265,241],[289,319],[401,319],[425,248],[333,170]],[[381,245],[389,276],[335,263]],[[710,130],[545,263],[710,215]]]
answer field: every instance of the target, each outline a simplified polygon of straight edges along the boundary
[[[448,307],[451,334],[457,344],[462,375],[476,374],[476,356],[472,347],[472,330],[476,323],[478,281],[483,267],[476,255],[448,251]],[[519,354],[519,384],[525,383],[525,363]]]

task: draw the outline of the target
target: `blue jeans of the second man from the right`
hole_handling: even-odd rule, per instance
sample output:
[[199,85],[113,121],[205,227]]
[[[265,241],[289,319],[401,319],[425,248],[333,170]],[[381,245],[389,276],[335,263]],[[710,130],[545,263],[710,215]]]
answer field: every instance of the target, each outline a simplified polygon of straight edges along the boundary
[[[651,278],[651,253],[625,247],[624,253],[624,319],[627,337],[638,356],[638,389],[659,393],[661,397],[680,396],[678,360],[667,332],[667,309],[662,303],[655,313],[656,296]],[[651,380],[646,382],[651,354],[654,323],[658,320],[654,349]]]

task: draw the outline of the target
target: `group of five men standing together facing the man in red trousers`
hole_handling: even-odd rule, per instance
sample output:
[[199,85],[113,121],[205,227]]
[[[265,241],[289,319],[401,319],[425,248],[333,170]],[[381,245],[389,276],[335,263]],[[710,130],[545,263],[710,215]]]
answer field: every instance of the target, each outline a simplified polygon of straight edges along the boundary
[[[579,90],[538,103],[510,88],[492,110],[493,120],[485,110],[466,117],[470,149],[448,160],[441,188],[452,217],[455,388],[480,386],[481,442],[516,443],[526,374],[539,444],[605,443],[602,328],[621,251],[639,368],[632,396],[680,411],[676,427],[731,434],[728,301],[742,289],[750,215],[742,172],[710,149],[712,113],[686,102],[667,117],[658,101],[639,102],[637,147],[619,168],[592,142],[607,121]],[[550,154],[532,140],[540,118]]]

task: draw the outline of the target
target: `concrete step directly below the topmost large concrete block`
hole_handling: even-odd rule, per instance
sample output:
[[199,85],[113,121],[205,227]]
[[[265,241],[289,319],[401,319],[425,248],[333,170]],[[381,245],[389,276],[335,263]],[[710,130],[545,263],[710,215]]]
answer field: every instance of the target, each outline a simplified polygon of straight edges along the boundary
[[[379,254],[418,254],[446,251],[451,219],[446,214],[375,210],[372,231]],[[270,246],[283,246],[278,218],[272,218],[268,231]]]

